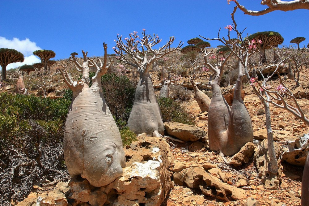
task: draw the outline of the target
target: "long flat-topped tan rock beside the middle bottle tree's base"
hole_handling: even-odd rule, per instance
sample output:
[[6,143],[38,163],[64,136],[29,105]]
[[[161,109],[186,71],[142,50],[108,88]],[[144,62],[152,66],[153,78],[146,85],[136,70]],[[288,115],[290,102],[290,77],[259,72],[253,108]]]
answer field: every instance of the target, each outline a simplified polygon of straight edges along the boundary
[[178,122],[166,122],[164,127],[167,135],[174,136],[183,141],[195,142],[206,135],[205,131],[197,126]]

